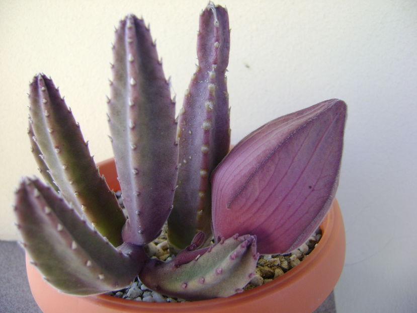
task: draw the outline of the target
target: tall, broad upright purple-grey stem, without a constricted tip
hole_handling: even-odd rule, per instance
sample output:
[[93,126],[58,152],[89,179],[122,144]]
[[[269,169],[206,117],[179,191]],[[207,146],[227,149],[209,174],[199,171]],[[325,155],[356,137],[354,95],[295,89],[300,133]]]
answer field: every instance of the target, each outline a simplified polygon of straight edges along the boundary
[[116,30],[109,124],[123,202],[125,242],[156,238],[172,210],[178,175],[175,102],[149,29],[127,16]]

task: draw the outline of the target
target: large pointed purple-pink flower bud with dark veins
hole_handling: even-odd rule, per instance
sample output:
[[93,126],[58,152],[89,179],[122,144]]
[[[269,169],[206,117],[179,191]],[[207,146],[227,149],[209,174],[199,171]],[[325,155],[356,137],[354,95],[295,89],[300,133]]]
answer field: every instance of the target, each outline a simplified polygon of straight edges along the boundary
[[213,174],[215,237],[254,234],[263,254],[300,246],[335,196],[345,121],[346,104],[332,99],[243,138]]

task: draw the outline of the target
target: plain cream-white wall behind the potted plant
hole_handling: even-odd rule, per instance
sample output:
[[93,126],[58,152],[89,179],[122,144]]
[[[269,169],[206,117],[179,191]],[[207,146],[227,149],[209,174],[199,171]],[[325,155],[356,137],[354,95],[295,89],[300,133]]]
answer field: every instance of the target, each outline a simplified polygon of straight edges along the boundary
[[[51,75],[90,140],[107,138],[113,25],[143,15],[178,108],[194,71],[198,1],[0,2],[0,239],[13,240],[13,189],[36,174],[26,135],[28,82]],[[330,98],[349,105],[337,194],[347,256],[338,312],[417,310],[417,2],[237,1],[229,11],[232,141],[272,118]]]

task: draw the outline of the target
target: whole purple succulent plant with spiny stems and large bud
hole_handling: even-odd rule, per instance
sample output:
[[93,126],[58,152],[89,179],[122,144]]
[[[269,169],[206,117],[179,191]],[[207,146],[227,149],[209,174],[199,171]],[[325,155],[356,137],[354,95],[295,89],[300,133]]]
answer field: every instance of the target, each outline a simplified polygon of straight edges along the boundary
[[[121,289],[136,276],[185,299],[242,291],[260,253],[297,248],[329,209],[346,104],[327,100],[272,120],[228,152],[227,11],[209,3],[201,13],[198,66],[177,119],[143,20],[128,15],[115,33],[108,122],[126,213],[58,89],[37,74],[28,133],[49,186],[25,178],[16,191],[23,246],[70,294]],[[162,262],[146,246],[167,219],[178,254]]]

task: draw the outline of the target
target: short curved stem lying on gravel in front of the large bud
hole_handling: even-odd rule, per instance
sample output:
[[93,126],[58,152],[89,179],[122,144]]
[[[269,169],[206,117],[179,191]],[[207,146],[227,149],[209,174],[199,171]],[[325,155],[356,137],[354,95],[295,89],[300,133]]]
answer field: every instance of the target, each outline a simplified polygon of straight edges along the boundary
[[[215,246],[182,253],[181,260],[166,263],[151,259],[140,272],[140,280],[159,293],[188,300],[227,297],[243,291],[259,257],[256,237],[238,234]],[[187,253],[193,259],[184,264]]]

